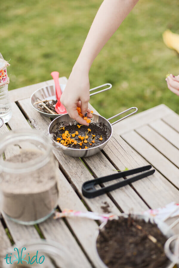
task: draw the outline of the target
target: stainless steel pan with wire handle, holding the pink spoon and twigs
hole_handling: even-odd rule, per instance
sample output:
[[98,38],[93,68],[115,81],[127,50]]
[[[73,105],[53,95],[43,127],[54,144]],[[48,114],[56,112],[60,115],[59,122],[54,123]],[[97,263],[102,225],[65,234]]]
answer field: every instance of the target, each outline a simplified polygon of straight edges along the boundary
[[[66,84],[60,84],[60,87],[61,87],[61,91],[62,92],[64,92],[65,86],[66,86]],[[102,89],[102,90],[99,90],[97,92],[91,93],[90,94],[90,97],[93,96],[93,95],[96,95],[98,93],[101,93],[101,92],[104,92],[106,90],[111,89],[112,88],[112,85],[110,83],[106,83],[106,84],[103,84],[101,86],[96,86],[96,87],[90,89],[90,92],[92,92],[92,91],[94,91],[96,89],[104,88],[104,87],[106,87],[106,88],[105,89]],[[40,103],[39,104],[34,104],[38,100],[56,100],[55,85],[45,86],[45,87],[42,87],[41,89],[37,89],[31,95],[31,97],[30,97],[30,103],[31,103],[32,107],[36,111],[38,111],[39,113],[43,114],[46,117],[57,118],[59,116],[59,114],[48,114],[48,113],[45,113],[45,112],[42,112],[42,111],[38,110],[38,105]]]

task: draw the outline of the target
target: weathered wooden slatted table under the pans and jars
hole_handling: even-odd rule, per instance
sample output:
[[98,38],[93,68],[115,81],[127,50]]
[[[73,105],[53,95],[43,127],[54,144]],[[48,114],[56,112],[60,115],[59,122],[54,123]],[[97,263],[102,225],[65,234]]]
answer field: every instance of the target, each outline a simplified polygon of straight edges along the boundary
[[[66,83],[67,78],[59,78],[59,81]],[[7,133],[10,129],[30,129],[29,118],[34,118],[42,130],[47,130],[51,120],[32,108],[30,96],[36,89],[51,84],[53,80],[10,91],[13,115],[0,128],[0,134]],[[141,213],[172,201],[178,202],[179,116],[168,107],[160,105],[116,124],[114,130],[113,137],[104,150],[92,157],[72,158],[53,149],[59,162],[59,208],[104,213],[104,207],[108,207],[111,213]],[[116,173],[116,169],[136,168],[147,163],[156,169],[149,178],[95,199],[87,199],[82,195],[81,186],[87,180]],[[105,183],[107,184],[109,185]],[[170,219],[170,222],[173,220]],[[69,250],[73,268],[97,267],[94,254],[94,234],[97,229],[98,224],[92,220],[54,220],[53,216],[38,224],[38,227],[22,226],[7,219],[2,212],[1,261],[10,246],[8,231],[11,242],[14,243],[21,239],[39,238],[40,235],[58,241]],[[175,227],[175,232],[179,233],[178,226]],[[47,267],[54,266],[47,264]]]

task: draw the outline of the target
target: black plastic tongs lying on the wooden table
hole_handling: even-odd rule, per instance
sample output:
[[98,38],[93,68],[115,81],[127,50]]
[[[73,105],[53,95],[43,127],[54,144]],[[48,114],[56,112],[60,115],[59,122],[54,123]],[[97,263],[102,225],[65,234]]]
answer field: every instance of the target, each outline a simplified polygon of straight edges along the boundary
[[132,178],[129,178],[129,179],[124,179],[121,182],[117,182],[115,184],[103,187],[99,190],[95,189],[95,185],[98,185],[98,184],[104,183],[104,182],[109,182],[109,181],[112,181],[114,179],[123,178],[123,177],[129,176],[129,175],[133,175],[133,174],[136,174],[136,173],[139,173],[142,171],[149,170],[151,168],[152,168],[151,165],[147,165],[147,166],[143,166],[141,168],[134,168],[134,169],[130,169],[127,171],[118,172],[118,173],[115,173],[115,174],[112,174],[109,176],[105,176],[105,177],[101,177],[98,179],[92,179],[90,181],[84,182],[84,184],[82,185],[82,193],[85,197],[88,197],[88,198],[100,196],[104,193],[108,193],[112,190],[121,188],[121,187],[123,187],[131,182],[135,182],[135,181],[138,181],[139,179],[143,179],[147,176],[150,176],[155,172],[155,169],[141,173],[141,174],[134,176]]

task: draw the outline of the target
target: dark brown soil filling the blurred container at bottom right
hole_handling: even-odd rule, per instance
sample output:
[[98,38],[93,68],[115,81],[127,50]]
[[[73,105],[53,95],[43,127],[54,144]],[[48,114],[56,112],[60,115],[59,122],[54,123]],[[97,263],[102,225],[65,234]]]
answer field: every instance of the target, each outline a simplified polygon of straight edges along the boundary
[[[149,235],[157,242],[152,242]],[[107,222],[98,235],[97,250],[109,268],[166,268],[166,240],[156,224],[129,215],[128,219],[119,217]]]

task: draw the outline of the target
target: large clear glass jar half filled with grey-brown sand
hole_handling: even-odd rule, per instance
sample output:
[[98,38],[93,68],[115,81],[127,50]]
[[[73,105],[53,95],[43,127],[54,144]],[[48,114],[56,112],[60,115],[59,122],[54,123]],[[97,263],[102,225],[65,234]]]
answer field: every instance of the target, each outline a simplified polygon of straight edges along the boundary
[[47,135],[17,130],[1,136],[1,210],[32,225],[50,217],[58,204],[58,163]]

